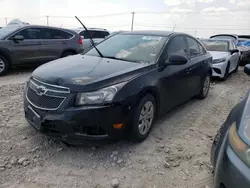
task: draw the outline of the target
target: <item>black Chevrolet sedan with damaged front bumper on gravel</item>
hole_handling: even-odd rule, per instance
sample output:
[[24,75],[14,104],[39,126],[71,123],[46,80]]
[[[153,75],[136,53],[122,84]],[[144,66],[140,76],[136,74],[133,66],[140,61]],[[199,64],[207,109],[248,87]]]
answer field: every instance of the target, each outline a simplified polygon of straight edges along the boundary
[[212,57],[192,36],[122,32],[85,54],[38,67],[24,91],[28,122],[63,138],[144,140],[157,115],[210,87]]

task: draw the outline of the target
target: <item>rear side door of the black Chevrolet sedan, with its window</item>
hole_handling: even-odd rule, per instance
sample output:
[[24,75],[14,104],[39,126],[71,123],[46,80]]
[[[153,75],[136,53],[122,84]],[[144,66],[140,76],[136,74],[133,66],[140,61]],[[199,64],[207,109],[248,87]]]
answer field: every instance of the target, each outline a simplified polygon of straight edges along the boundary
[[188,44],[188,63],[187,69],[187,95],[192,97],[199,92],[202,75],[204,75],[204,66],[207,63],[205,49],[194,38],[185,37]]

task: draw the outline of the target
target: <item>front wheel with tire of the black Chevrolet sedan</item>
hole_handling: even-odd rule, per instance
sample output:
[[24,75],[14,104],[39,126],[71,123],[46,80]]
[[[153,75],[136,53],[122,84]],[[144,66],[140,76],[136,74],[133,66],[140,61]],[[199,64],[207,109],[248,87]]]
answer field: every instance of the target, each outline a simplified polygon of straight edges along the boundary
[[155,98],[147,94],[138,103],[132,119],[132,138],[143,141],[151,131],[156,114]]

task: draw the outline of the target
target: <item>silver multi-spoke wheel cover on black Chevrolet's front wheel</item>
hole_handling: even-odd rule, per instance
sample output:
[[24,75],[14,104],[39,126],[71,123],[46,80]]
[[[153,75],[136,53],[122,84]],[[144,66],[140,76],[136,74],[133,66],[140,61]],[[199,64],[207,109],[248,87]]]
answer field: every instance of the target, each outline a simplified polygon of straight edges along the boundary
[[148,131],[152,126],[153,119],[154,119],[154,105],[151,101],[147,101],[143,105],[139,117],[138,128],[139,128],[139,133],[141,135],[145,135],[148,133]]

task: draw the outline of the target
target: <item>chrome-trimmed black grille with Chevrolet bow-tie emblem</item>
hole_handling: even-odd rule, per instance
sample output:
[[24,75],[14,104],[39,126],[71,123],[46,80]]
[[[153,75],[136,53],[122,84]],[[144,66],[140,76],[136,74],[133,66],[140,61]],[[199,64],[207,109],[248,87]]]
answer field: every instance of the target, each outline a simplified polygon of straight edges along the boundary
[[29,103],[38,109],[57,110],[66,99],[67,93],[69,92],[68,88],[30,79],[26,97]]

